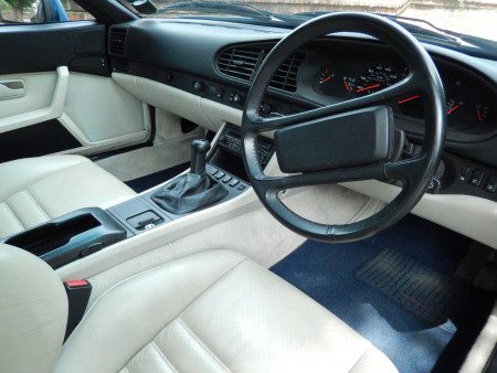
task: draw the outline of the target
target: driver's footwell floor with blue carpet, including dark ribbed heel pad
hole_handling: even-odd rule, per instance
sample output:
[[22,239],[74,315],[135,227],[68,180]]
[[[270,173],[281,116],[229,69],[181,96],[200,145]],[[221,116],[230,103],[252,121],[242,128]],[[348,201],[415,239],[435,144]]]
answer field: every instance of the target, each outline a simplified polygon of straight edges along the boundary
[[[356,243],[307,241],[271,269],[370,340],[400,372],[455,372],[495,299],[454,276],[467,244],[410,215]],[[425,284],[429,275],[435,285]]]

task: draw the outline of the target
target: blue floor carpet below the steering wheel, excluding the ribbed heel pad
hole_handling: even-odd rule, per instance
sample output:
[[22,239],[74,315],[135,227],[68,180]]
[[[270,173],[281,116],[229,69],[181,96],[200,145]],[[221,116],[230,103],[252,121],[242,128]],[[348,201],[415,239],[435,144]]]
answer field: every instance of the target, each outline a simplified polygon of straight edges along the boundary
[[355,274],[390,248],[453,277],[467,244],[452,231],[409,215],[364,241],[307,241],[271,269],[370,340],[400,372],[455,372],[490,312],[493,295],[465,284],[470,291],[462,291],[457,311],[433,324]]

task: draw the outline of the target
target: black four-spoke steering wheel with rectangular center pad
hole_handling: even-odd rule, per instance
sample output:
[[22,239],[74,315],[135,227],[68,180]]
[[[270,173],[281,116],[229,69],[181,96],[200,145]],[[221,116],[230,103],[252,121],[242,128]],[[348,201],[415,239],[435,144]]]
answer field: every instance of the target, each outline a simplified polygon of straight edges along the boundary
[[[389,44],[409,67],[402,81],[367,96],[308,111],[262,117],[260,107],[274,72],[305,43],[335,32],[358,32]],[[423,95],[425,134],[421,152],[394,160],[394,119],[389,102],[406,93]],[[248,92],[242,120],[242,143],[250,181],[264,206],[281,223],[308,238],[351,242],[374,235],[405,216],[425,193],[442,157],[445,94],[424,47],[402,26],[366,13],[331,13],[313,19],[279,41],[262,63]],[[283,177],[261,168],[256,139],[275,130],[275,151]],[[289,210],[278,193],[286,189],[371,179],[402,182],[401,192],[381,211],[346,225],[309,221]]]

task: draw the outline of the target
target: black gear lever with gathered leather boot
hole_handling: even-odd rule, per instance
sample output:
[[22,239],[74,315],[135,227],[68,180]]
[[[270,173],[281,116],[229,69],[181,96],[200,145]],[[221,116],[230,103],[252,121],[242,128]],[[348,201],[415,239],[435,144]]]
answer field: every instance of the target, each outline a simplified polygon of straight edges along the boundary
[[208,140],[191,141],[190,172],[181,174],[151,199],[158,206],[173,214],[184,214],[211,205],[228,195],[228,190],[205,172],[205,157],[211,149]]

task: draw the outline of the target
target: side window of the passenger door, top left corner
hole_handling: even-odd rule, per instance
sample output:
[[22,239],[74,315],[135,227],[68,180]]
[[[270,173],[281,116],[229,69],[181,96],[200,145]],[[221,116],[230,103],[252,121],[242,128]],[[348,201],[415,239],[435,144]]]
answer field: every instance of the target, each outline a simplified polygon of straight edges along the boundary
[[93,19],[73,0],[0,0],[0,25]]

